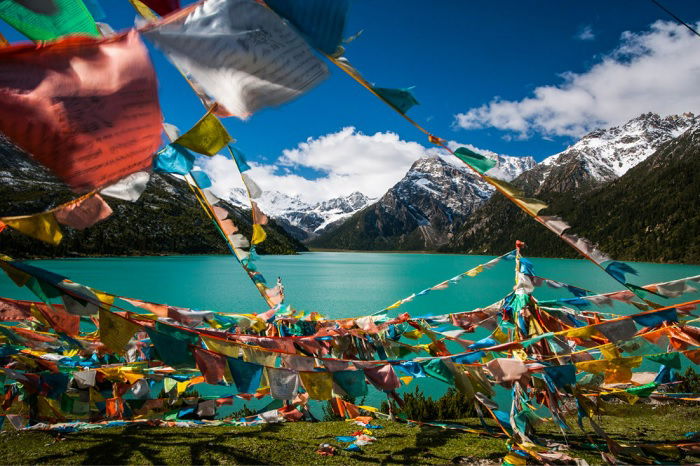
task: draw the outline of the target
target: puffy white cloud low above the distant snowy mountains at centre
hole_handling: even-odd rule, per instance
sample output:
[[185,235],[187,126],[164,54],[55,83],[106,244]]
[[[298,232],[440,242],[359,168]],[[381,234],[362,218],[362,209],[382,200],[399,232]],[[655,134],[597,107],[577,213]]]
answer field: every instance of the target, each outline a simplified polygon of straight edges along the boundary
[[[366,135],[348,127],[286,149],[274,164],[249,161],[252,168],[246,173],[265,191],[299,195],[309,203],[354,191],[379,197],[425,154],[425,147],[403,141],[395,133]],[[232,161],[215,156],[203,163],[212,178],[215,194],[225,196],[230,190],[242,187]],[[307,178],[304,169],[312,169],[321,176]]]

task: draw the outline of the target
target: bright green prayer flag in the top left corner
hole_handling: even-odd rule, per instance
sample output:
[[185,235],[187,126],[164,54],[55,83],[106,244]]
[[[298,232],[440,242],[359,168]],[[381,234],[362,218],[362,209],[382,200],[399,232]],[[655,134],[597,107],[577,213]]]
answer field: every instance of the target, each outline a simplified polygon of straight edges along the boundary
[[53,40],[68,34],[100,36],[82,0],[0,0],[0,18],[33,41]]

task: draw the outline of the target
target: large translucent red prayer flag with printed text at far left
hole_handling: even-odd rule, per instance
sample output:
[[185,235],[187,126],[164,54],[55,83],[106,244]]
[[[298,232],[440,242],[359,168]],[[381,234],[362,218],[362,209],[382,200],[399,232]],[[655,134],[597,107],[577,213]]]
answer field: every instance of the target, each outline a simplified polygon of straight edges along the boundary
[[0,49],[0,131],[76,192],[150,168],[161,124],[136,31]]

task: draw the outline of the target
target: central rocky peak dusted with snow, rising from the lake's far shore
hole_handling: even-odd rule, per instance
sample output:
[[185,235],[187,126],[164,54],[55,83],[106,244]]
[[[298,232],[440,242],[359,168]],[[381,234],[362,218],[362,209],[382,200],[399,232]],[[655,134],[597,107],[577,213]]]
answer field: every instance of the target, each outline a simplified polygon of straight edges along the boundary
[[[514,160],[510,160],[514,159]],[[530,158],[501,156],[502,176],[534,165]],[[519,167],[519,168],[518,168]],[[491,194],[468,169],[439,157],[418,159],[379,201],[309,242],[317,248],[435,250]]]

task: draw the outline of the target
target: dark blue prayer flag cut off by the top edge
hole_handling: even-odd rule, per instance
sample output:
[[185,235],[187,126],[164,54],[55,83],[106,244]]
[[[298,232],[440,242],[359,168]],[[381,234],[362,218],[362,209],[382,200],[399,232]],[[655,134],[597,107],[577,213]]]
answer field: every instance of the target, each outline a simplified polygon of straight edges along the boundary
[[349,0],[266,0],[278,15],[292,23],[309,43],[328,55],[343,40]]

